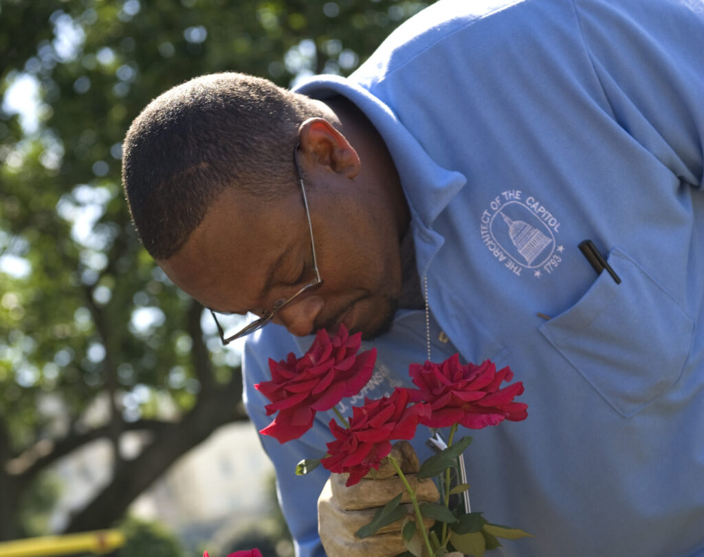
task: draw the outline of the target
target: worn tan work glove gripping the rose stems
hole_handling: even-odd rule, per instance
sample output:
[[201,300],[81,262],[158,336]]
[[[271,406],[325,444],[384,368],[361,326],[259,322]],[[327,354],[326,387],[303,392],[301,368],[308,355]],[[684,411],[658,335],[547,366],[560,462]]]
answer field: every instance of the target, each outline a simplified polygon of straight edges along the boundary
[[[415,489],[418,502],[435,502],[440,494],[432,479],[419,480],[418,457],[408,441],[398,441],[391,455],[401,464],[403,475]],[[318,533],[327,557],[391,557],[406,551],[401,538],[403,520],[386,525],[370,537],[359,539],[355,532],[370,523],[379,507],[403,492],[402,503],[410,499],[394,467],[384,460],[379,470],[370,470],[360,482],[345,486],[346,474],[331,474],[318,498]],[[413,512],[410,504],[410,512]],[[434,520],[425,519],[427,528]]]

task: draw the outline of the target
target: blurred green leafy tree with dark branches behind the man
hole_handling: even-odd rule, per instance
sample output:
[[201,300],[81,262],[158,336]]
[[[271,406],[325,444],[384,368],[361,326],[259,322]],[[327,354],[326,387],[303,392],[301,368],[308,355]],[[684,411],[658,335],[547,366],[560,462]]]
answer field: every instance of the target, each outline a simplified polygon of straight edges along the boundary
[[[112,525],[180,455],[246,419],[236,355],[142,249],[120,144],[168,87],[237,70],[347,74],[410,0],[0,0],[0,539],[40,473],[113,444],[113,480],[67,531]],[[102,411],[96,411],[102,409]],[[120,439],[149,442],[127,459]]]

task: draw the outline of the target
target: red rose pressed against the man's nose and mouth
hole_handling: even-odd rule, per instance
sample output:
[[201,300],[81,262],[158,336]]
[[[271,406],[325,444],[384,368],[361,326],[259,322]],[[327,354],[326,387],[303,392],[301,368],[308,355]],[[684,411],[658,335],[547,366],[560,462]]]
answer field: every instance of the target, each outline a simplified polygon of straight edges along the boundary
[[358,354],[362,333],[349,335],[341,325],[332,338],[318,331],[308,352],[296,359],[293,352],[286,360],[269,359],[271,380],[254,385],[272,404],[267,416],[279,414],[259,433],[276,437],[281,443],[297,439],[313,427],[317,411],[331,409],[344,397],[356,395],[374,371],[377,350]]

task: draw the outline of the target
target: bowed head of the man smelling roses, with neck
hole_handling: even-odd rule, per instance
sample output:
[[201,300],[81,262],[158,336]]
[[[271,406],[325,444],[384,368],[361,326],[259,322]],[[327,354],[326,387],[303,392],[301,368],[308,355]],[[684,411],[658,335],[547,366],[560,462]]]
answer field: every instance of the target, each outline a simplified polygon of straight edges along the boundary
[[407,209],[383,141],[348,110],[240,74],[194,79],[145,108],[125,140],[125,192],[177,286],[215,312],[263,314],[312,278],[299,145],[324,284],[273,321],[296,335],[389,326]]

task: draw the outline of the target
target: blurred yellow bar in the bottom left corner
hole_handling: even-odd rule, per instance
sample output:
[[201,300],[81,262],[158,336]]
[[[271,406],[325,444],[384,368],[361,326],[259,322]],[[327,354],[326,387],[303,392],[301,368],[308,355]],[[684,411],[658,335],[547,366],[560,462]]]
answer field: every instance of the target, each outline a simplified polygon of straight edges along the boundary
[[82,534],[42,536],[0,542],[0,557],[49,557],[73,553],[109,553],[125,545],[120,530],[98,530]]

